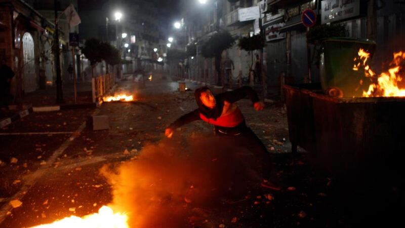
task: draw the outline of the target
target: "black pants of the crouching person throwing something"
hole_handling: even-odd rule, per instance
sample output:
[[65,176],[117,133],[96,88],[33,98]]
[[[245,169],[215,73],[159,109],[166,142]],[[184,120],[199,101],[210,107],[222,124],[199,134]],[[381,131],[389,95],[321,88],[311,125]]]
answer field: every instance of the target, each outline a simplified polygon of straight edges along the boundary
[[215,128],[218,137],[232,143],[232,145],[249,149],[261,163],[263,179],[269,180],[273,177],[270,153],[263,142],[248,126],[238,126],[237,129]]

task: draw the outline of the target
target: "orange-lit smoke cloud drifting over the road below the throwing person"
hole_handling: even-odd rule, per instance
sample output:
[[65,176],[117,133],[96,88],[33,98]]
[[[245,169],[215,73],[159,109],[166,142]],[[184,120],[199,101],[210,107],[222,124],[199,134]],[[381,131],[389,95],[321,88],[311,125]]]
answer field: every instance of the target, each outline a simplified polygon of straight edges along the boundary
[[130,227],[205,223],[209,218],[201,211],[243,198],[260,180],[248,150],[219,138],[197,138],[164,139],[145,146],[137,160],[101,169],[113,188],[109,206],[127,212]]

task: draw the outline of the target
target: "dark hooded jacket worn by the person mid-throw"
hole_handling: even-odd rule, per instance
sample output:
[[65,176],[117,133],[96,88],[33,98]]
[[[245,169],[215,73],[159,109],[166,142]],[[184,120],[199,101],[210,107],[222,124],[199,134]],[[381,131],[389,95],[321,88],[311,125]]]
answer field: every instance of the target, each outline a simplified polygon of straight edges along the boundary
[[259,97],[257,96],[256,91],[249,86],[244,86],[233,91],[228,91],[214,96],[216,100],[216,106],[211,109],[205,106],[199,98],[201,93],[207,90],[208,87],[196,89],[194,92],[194,96],[198,108],[177,119],[169,126],[169,128],[176,129],[190,122],[200,120],[200,114],[204,115],[208,119],[217,119],[222,114],[222,109],[224,107],[225,101],[234,103],[245,97],[248,97],[253,103],[259,101]]

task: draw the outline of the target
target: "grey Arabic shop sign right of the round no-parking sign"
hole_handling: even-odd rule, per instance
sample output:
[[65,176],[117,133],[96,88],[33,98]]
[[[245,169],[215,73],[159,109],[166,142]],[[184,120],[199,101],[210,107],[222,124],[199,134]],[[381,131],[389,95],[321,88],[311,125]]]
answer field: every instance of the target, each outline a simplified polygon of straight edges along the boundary
[[323,0],[321,2],[321,23],[331,23],[360,14],[360,0]]

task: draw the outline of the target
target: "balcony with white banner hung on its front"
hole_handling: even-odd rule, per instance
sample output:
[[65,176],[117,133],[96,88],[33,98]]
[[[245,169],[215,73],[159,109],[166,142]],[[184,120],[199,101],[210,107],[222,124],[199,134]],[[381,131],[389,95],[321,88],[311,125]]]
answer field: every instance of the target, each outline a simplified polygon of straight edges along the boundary
[[258,6],[239,8],[225,15],[226,26],[241,26],[260,17],[260,9]]

